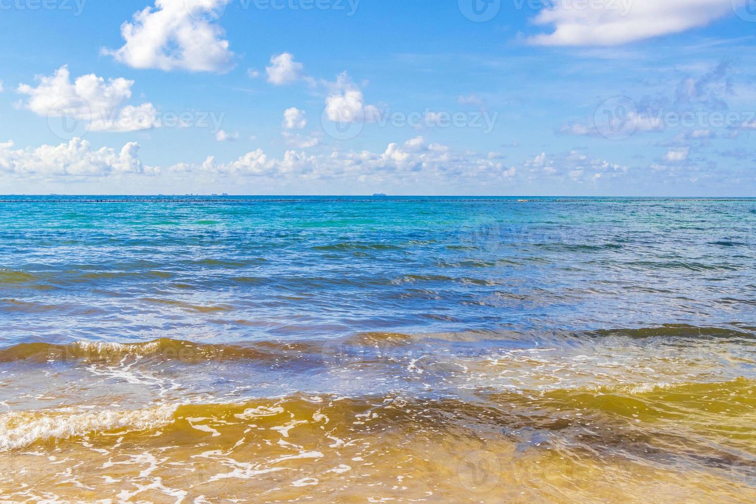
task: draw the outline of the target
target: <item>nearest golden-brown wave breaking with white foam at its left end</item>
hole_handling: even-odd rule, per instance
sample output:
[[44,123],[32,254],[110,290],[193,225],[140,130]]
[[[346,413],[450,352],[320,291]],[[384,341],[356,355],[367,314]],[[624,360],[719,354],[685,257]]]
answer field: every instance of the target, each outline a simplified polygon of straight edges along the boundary
[[[621,446],[646,456],[646,443],[677,444],[671,453],[702,450],[726,458],[753,452],[756,382],[617,384],[595,390],[506,391],[475,394],[469,400],[400,393],[340,397],[295,394],[237,403],[163,404],[139,410],[38,410],[0,415],[0,450],[36,442],[76,438],[123,429],[144,438],[160,431],[161,445],[212,441],[230,447],[240,439],[268,438],[276,431],[288,443],[336,438],[448,432],[474,438],[527,442],[534,433],[559,432],[575,448],[603,452]],[[253,428],[253,431],[249,429]],[[144,433],[140,434],[142,431]],[[702,444],[702,439],[708,439]],[[166,441],[167,440],[167,441]],[[312,447],[321,450],[323,447]],[[210,448],[206,448],[210,449]],[[734,450],[734,451],[733,451]],[[713,454],[712,454],[713,453]]]

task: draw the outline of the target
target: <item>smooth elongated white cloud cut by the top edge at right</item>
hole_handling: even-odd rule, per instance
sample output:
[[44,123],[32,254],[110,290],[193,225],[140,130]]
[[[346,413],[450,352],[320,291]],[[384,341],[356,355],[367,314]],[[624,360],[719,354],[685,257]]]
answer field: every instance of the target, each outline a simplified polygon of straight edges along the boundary
[[706,26],[733,14],[732,2],[744,0],[556,0],[534,19],[553,25],[532,36],[536,45],[618,45]]

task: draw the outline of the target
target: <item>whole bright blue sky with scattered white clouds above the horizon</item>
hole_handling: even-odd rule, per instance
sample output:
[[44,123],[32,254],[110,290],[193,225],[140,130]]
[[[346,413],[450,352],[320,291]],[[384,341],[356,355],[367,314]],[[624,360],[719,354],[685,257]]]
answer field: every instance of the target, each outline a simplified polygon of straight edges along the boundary
[[756,0],[0,0],[0,193],[756,196]]

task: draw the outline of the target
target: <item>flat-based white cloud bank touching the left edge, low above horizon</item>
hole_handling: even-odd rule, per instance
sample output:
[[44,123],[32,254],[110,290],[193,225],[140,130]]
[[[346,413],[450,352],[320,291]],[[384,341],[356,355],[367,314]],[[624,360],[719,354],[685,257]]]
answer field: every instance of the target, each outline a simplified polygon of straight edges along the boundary
[[153,175],[156,169],[138,158],[139,144],[125,144],[116,152],[109,147],[93,150],[88,141],[74,138],[67,144],[14,150],[13,142],[0,144],[0,172],[24,177],[105,177],[118,174]]

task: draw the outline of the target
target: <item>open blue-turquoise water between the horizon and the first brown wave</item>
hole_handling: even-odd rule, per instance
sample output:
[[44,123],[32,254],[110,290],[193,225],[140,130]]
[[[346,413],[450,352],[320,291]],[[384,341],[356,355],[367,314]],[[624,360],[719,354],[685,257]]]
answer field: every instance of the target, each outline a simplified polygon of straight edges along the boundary
[[17,197],[0,345],[748,325],[754,229],[754,200]]

